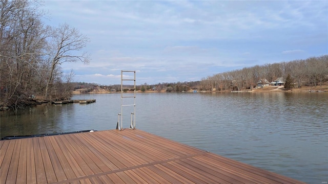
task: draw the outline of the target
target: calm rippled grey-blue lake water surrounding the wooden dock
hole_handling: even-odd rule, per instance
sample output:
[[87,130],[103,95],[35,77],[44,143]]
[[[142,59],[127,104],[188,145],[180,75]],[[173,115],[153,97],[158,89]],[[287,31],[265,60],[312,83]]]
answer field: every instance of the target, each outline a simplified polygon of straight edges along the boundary
[[[116,128],[120,94],[73,99],[96,103],[1,112],[1,137]],[[124,128],[132,111],[124,108]],[[328,93],[137,94],[136,128],[304,182],[328,181]]]

